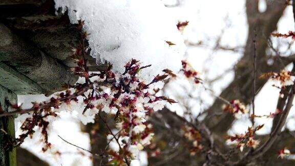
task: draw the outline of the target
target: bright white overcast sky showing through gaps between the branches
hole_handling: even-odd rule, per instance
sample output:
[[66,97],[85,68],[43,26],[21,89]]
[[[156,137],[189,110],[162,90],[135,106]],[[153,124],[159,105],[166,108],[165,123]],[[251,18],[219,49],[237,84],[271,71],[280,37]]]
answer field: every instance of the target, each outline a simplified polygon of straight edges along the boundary
[[[99,0],[98,0],[99,1]],[[165,0],[166,3],[173,4],[176,0]],[[247,36],[247,23],[245,16],[245,1],[244,0],[184,0],[180,7],[174,7],[174,15],[176,20],[188,20],[189,26],[184,31],[184,38],[198,43],[203,41],[208,47],[187,47],[185,57],[192,63],[197,71],[202,73],[202,77],[206,79],[212,79],[216,76],[223,74],[228,69],[233,68],[237,60],[241,57],[242,53],[233,53],[230,51],[213,51],[215,40],[217,36],[221,34],[222,29],[225,28],[224,34],[221,40],[221,44],[226,46],[243,46],[245,44]],[[265,4],[261,1],[260,10],[265,10]],[[165,14],[165,13],[162,13]],[[292,18],[291,7],[287,7],[283,18],[279,22],[279,32],[285,33],[289,30],[294,30],[294,23]],[[294,47],[292,46],[292,49]],[[226,72],[227,74],[222,77],[219,81],[215,82],[212,89],[215,94],[218,95],[224,87],[233,79],[233,72]],[[185,84],[184,82],[182,82]],[[174,91],[168,91],[167,94],[177,97],[178,94],[174,93],[175,86],[168,86],[167,88],[174,88]],[[193,89],[189,89],[192,91]],[[181,89],[180,89],[181,91]],[[183,90],[181,91],[183,92]],[[269,114],[274,112],[277,104],[279,91],[271,87],[271,82],[268,82],[261,92],[256,97],[256,113],[260,115]],[[208,92],[204,92],[201,87],[197,87],[195,95],[200,96],[204,99],[204,102],[209,105],[213,102],[213,97]],[[23,102],[26,99],[32,101],[41,101],[44,98],[38,96],[24,97],[19,96],[19,102]],[[195,104],[195,114],[200,110],[200,105]],[[205,105],[206,105],[205,104]],[[203,106],[204,107],[204,106]],[[171,107],[172,110],[181,113],[180,107],[174,105]],[[291,115],[295,116],[295,108],[291,109]],[[61,157],[51,155],[49,152],[42,153],[41,145],[38,144],[38,135],[34,136],[33,140],[27,139],[22,144],[23,148],[26,148],[38,157],[46,160],[51,165],[91,165],[91,160],[88,157],[82,157],[76,155],[77,149],[70,146],[64,141],[60,140],[57,135],[65,138],[66,140],[79,145],[80,147],[89,149],[89,136],[87,133],[81,133],[79,121],[69,113],[62,113],[60,119],[53,123],[53,129],[49,141],[54,144],[60,152],[66,152]],[[270,130],[269,124],[271,119],[260,119],[257,124],[266,123],[268,124],[263,128],[260,133],[266,133]],[[294,129],[294,120],[287,123],[287,127]],[[230,133],[244,133],[244,131],[250,126],[250,123],[246,119],[237,120],[233,129]]]

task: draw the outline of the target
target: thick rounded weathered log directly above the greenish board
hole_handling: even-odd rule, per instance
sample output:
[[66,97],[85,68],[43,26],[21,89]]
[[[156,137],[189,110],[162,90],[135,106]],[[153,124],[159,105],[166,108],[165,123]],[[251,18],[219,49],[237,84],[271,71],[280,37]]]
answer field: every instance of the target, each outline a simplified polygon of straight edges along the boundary
[[68,67],[24,41],[3,24],[0,24],[0,38],[0,62],[36,82],[42,89],[39,93],[50,94],[61,90],[62,84],[76,82],[77,76]]

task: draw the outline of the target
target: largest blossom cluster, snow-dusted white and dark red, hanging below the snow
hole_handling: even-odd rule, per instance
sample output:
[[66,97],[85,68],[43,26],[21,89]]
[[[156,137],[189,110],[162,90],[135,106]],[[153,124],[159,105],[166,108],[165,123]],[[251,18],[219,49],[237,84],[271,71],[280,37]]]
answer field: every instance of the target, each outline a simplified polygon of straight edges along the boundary
[[[122,74],[112,72],[111,67],[99,73],[88,73],[87,67],[83,64],[86,61],[81,57],[78,59],[79,57],[73,56],[77,62],[77,67],[73,71],[85,78],[84,84],[66,85],[64,86],[66,91],[57,93],[56,97],[52,97],[49,101],[34,103],[31,109],[22,110],[20,106],[11,105],[19,113],[33,112],[32,117],[27,118],[22,126],[22,130],[27,133],[20,135],[13,143],[18,146],[26,137],[32,135],[34,127],[38,126],[44,135],[46,147],[43,150],[46,151],[50,148],[47,133],[49,122],[46,121],[46,117],[57,116],[54,111],[79,102],[77,97],[80,96],[85,107],[82,114],[87,112],[89,116],[98,114],[108,129],[110,128],[107,120],[100,115],[101,112],[109,115],[107,118],[114,117],[116,121],[119,132],[114,134],[110,129],[108,136],[108,138],[112,136],[109,139],[108,151],[113,157],[112,161],[128,163],[129,160],[138,158],[139,151],[149,146],[154,136],[153,127],[147,122],[147,117],[152,112],[162,109],[166,102],[175,102],[165,96],[157,96],[150,88],[152,84],[166,79],[169,74],[157,75],[151,82],[146,83],[140,80],[138,74],[140,70],[149,66],[141,67],[139,61],[135,59],[125,65],[125,72]],[[95,79],[93,81],[90,78]]]

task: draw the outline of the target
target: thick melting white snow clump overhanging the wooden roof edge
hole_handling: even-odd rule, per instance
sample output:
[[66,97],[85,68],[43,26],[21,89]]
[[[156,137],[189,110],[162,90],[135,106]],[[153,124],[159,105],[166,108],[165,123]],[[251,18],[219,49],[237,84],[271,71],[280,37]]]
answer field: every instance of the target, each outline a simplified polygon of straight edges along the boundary
[[163,69],[177,72],[181,67],[183,39],[170,10],[159,0],[55,0],[55,8],[68,11],[72,24],[85,21],[91,55],[98,64],[108,61],[123,72],[135,58],[143,66],[152,65],[142,71],[146,81]]

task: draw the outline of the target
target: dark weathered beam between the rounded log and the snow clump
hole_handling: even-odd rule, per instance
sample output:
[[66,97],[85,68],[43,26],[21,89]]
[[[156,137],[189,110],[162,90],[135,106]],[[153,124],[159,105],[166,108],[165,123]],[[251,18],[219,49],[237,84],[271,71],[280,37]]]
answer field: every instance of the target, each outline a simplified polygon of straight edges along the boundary
[[[27,17],[11,17],[5,24],[20,37],[30,40],[39,49],[46,52],[68,67],[76,66],[70,58],[72,49],[79,45],[80,33],[76,25],[72,25],[68,15],[34,15]],[[98,66],[96,59],[88,55],[90,71],[104,69]]]

